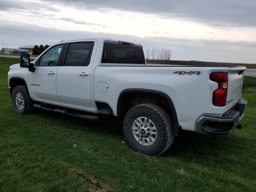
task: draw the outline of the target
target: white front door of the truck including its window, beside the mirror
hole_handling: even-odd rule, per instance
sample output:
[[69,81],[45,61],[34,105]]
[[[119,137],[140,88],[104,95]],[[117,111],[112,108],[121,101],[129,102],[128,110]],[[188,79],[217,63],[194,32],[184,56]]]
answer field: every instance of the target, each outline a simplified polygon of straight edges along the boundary
[[29,88],[33,98],[60,102],[56,92],[56,74],[63,46],[63,44],[57,45],[45,52],[36,61],[36,70],[29,72]]

